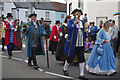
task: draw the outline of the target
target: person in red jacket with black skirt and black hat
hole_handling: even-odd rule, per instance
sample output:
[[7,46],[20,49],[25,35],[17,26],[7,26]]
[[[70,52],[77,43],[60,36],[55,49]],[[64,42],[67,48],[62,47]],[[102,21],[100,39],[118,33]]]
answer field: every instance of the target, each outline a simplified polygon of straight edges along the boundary
[[52,27],[51,35],[50,35],[50,42],[49,42],[49,51],[52,51],[52,54],[56,51],[57,44],[58,44],[58,34],[61,29],[59,28],[60,21],[56,21],[56,25]]

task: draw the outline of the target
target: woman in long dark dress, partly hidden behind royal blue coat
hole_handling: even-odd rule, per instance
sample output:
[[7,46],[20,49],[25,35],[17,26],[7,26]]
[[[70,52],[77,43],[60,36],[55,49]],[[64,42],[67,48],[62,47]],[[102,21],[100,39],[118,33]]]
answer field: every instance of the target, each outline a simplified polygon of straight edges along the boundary
[[58,43],[58,46],[55,52],[55,58],[57,61],[65,60],[65,55],[63,54],[63,51],[64,51],[64,45],[66,43],[66,38],[68,36],[66,26],[67,26],[68,20],[70,19],[71,19],[71,16],[67,15],[64,23],[61,25],[62,37],[60,38],[60,41]]

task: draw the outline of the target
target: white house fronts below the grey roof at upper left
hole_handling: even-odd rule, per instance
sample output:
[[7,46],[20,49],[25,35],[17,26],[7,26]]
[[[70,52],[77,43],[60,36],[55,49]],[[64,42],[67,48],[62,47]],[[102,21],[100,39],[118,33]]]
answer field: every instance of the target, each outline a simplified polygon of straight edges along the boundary
[[[35,9],[34,12],[37,14],[37,20],[44,18],[45,21],[49,21],[53,26],[56,21],[56,12],[55,9]],[[4,16],[7,16],[7,13],[12,13],[13,19],[20,19],[20,21],[26,22],[28,16],[30,15],[29,7],[16,7],[13,2],[4,3]]]

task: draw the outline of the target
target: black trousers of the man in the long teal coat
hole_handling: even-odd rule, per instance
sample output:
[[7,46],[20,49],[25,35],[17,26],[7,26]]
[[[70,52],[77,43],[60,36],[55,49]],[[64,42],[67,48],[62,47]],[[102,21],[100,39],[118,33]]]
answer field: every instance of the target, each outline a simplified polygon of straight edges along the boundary
[[36,51],[36,47],[32,47],[31,57],[28,58],[28,63],[31,63],[31,61],[33,61],[34,66],[37,66]]

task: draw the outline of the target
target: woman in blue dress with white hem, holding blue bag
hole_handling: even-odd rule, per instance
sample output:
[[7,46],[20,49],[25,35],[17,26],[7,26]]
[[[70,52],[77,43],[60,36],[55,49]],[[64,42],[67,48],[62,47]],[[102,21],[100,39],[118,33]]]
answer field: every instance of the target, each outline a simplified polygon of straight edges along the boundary
[[[115,74],[115,58],[110,45],[110,21],[104,23],[103,28],[97,34],[97,40],[87,60],[86,70],[100,75]],[[101,47],[101,48],[100,48]]]

